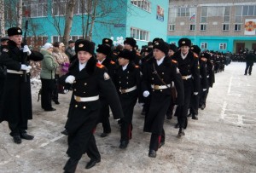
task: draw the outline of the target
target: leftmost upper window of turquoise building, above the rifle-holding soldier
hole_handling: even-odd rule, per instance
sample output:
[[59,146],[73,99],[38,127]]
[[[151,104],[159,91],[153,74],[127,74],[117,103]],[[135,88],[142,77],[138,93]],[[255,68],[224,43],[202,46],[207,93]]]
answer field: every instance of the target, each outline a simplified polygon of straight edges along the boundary
[[29,17],[44,17],[47,16],[48,0],[28,1],[22,3],[24,15]]

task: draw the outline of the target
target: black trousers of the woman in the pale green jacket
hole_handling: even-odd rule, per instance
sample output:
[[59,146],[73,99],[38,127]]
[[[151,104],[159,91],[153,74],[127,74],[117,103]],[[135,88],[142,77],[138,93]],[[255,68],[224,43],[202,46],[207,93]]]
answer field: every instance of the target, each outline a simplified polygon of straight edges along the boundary
[[51,109],[51,96],[55,79],[44,79],[42,81],[41,107],[45,110]]

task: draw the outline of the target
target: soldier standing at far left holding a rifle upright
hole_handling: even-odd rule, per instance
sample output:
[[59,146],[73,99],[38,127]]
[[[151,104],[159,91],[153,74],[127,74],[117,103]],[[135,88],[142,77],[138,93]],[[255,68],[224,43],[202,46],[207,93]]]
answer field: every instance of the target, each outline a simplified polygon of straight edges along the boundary
[[[22,30],[20,27],[11,27],[7,32],[8,46],[3,48],[0,57],[0,64],[7,67],[0,122],[8,121],[11,130],[10,136],[13,136],[15,143],[20,144],[21,139],[32,140],[34,137],[26,133],[27,121],[32,119],[31,66],[27,66],[26,63],[31,60],[42,61],[44,56],[36,51],[31,51],[27,45],[21,43]],[[26,61],[23,61],[26,56]]]

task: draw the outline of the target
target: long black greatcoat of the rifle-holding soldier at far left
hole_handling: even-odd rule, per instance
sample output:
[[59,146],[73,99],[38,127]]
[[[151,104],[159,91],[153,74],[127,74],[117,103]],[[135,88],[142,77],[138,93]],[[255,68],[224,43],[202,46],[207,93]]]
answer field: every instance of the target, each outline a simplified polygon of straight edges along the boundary
[[[3,49],[0,64],[9,70],[20,71],[23,52],[16,43],[9,41],[7,49]],[[42,61],[44,56],[39,52],[32,51],[27,56],[29,61]],[[24,82],[22,74],[7,73],[3,89],[3,110],[1,110],[1,122],[6,120],[9,124],[17,124],[20,120],[32,119],[32,95],[30,85],[30,73],[26,73]],[[23,127],[25,130],[27,127]]]

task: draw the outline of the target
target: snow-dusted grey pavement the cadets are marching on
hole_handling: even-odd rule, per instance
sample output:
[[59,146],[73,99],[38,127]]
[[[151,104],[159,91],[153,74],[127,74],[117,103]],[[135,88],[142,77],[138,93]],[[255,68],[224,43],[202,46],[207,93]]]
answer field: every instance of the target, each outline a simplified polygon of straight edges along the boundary
[[[102,161],[84,169],[84,154],[77,167],[82,172],[168,172],[168,173],[253,173],[256,172],[256,69],[244,75],[245,63],[231,62],[215,74],[207,107],[199,110],[199,120],[189,118],[185,136],[177,138],[177,118],[165,121],[166,144],[155,159],[148,157],[150,134],[143,132],[142,107],[134,110],[132,139],[119,148],[119,125],[110,118],[112,133],[102,138],[102,124],[96,129],[96,143]],[[253,66],[255,67],[255,66]],[[59,95],[55,112],[44,112],[38,102],[38,87],[32,87],[33,119],[27,132],[32,141],[15,144],[7,122],[0,124],[0,173],[58,173],[67,162],[64,130],[71,97]]]

